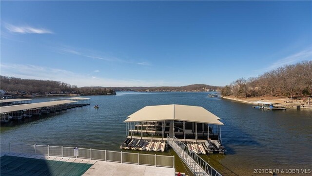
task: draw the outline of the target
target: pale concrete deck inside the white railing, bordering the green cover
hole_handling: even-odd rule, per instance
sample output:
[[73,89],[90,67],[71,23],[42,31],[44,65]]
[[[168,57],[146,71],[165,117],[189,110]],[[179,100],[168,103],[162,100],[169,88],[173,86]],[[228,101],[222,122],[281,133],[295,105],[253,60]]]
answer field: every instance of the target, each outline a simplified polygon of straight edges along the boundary
[[[2,155],[4,154],[1,153],[1,156]],[[18,153],[9,153],[5,155],[94,164],[82,176],[173,176],[175,172],[174,168],[125,164],[125,163],[72,158],[72,157],[18,154]]]

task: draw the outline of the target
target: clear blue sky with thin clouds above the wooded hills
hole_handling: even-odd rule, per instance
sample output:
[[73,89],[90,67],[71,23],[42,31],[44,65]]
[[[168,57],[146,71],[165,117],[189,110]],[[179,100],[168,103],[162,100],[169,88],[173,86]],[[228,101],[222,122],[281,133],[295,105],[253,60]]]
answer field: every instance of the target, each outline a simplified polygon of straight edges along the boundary
[[0,74],[225,86],[312,60],[312,1],[1,1]]

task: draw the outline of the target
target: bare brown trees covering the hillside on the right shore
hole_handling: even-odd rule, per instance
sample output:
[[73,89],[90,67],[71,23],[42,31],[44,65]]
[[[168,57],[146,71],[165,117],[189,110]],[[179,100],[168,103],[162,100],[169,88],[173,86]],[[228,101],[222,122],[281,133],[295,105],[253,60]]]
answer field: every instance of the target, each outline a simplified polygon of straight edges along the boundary
[[221,94],[244,98],[264,95],[311,96],[312,61],[281,66],[258,77],[239,78],[223,87]]

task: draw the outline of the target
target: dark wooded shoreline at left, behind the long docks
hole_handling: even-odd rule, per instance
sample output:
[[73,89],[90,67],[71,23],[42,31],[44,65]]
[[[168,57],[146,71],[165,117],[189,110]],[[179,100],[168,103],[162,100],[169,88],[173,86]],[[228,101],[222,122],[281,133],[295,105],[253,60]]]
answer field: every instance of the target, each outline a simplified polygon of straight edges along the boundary
[[92,95],[116,94],[110,88],[83,87],[70,85],[60,81],[20,79],[15,77],[0,76],[0,88],[7,92],[18,94],[61,94],[82,93]]

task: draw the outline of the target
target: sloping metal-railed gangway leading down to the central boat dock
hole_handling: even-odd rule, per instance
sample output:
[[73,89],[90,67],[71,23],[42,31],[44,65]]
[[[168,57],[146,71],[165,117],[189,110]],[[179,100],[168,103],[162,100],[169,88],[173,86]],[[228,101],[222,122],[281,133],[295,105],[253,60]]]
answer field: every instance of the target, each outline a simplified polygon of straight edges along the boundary
[[174,138],[167,136],[167,142],[195,176],[222,176],[198,154],[189,150],[189,148],[175,136]]

